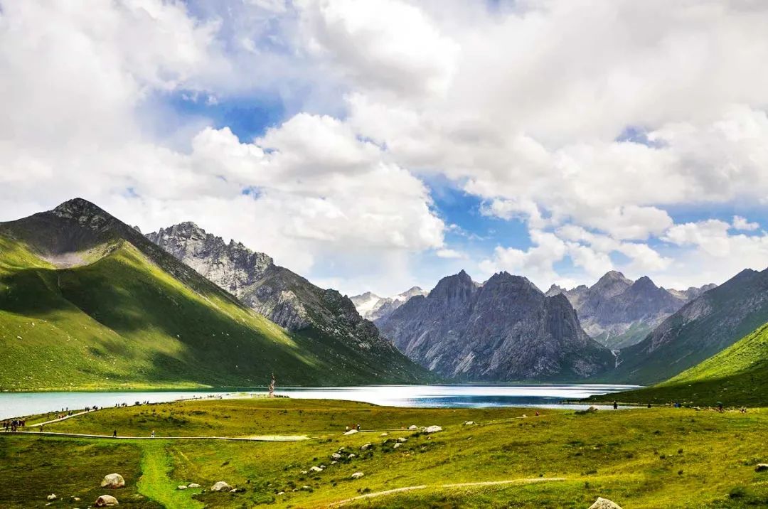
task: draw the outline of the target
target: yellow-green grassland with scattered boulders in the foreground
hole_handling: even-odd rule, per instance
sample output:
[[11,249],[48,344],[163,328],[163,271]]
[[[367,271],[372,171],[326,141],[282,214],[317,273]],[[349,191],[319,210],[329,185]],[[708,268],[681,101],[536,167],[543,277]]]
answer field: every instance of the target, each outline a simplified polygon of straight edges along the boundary
[[[477,424],[465,425],[467,420]],[[363,432],[342,435],[343,426],[355,422]],[[411,424],[441,425],[444,431],[401,429]],[[130,507],[329,507],[362,494],[420,485],[425,488],[344,507],[586,508],[598,496],[625,509],[765,507],[768,473],[756,472],[754,465],[768,459],[766,425],[768,410],[551,410],[535,416],[523,408],[385,408],[287,398],[111,408],[48,425],[46,431],[115,428],[121,435],[146,437],[156,429],[158,438],[0,434],[0,507],[40,507],[51,492],[60,497],[51,507],[75,507],[65,501],[76,494],[88,494],[83,500],[92,502],[100,494],[98,482],[112,471],[126,478],[127,488],[114,495]],[[382,429],[390,430],[386,437]],[[162,438],[225,434],[312,438]],[[407,441],[395,448],[396,438]],[[362,451],[365,444],[371,447]],[[331,464],[339,448],[344,456]],[[326,465],[323,471],[310,471],[320,464]],[[353,480],[358,471],[364,477]],[[521,481],[443,486],[513,480]],[[216,481],[244,491],[203,491]],[[176,489],[190,482],[203,488]]]

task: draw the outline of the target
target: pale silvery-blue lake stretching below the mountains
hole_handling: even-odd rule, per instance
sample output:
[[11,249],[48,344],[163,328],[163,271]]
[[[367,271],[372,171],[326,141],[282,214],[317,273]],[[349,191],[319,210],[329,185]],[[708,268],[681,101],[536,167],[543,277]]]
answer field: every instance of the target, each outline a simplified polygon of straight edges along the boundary
[[[637,388],[637,385],[359,385],[354,387],[277,388],[276,395],[290,398],[343,399],[398,407],[459,408],[525,406],[538,408],[588,408],[561,405],[564,400],[587,398]],[[188,398],[248,398],[266,395],[253,391],[148,391],[148,392],[4,392],[0,393],[0,419],[22,415],[109,407],[135,402],[171,402]],[[598,406],[598,408],[601,408]]]

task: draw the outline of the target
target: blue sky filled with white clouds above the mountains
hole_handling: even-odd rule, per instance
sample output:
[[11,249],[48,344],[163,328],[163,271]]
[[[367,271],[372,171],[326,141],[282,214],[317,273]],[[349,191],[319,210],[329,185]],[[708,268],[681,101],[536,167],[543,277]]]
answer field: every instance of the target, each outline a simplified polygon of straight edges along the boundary
[[83,197],[349,295],[723,283],[768,266],[766,26],[761,0],[0,0],[0,221]]

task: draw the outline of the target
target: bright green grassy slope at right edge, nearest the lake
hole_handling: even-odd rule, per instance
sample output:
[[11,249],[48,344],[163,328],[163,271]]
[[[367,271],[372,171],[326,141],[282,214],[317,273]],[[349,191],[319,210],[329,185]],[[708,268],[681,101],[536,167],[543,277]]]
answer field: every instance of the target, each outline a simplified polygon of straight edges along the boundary
[[653,387],[607,395],[622,402],[768,405],[768,324],[691,369]]

